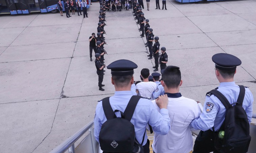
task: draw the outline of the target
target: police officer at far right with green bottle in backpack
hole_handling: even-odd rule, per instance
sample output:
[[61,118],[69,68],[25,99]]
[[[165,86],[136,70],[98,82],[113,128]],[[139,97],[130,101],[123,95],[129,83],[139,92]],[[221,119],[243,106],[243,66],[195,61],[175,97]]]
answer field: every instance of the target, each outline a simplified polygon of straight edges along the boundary
[[[220,82],[216,88],[229,101],[236,103],[240,88],[234,82],[236,66],[241,65],[241,60],[234,55],[219,53],[212,56],[215,63],[215,75]],[[243,108],[247,114],[249,123],[252,121],[253,96],[248,88],[245,88]],[[204,109],[199,118],[190,124],[195,130],[201,130],[196,137],[193,153],[216,152],[214,147],[213,131],[218,131],[225,120],[226,108],[215,95],[205,97]]]

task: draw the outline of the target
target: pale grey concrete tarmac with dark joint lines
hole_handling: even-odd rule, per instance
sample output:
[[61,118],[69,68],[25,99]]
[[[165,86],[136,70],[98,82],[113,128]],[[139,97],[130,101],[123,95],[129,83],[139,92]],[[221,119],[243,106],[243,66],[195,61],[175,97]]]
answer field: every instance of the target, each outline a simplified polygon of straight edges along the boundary
[[[151,1],[150,11],[144,5],[160,47],[167,48],[167,65],[180,67],[183,96],[204,103],[205,93],[218,86],[211,60],[216,53],[241,59],[235,81],[256,95],[256,0],[172,0],[167,10],[156,10]],[[98,2],[88,9],[89,18],[63,14],[0,16],[0,152],[50,152],[93,120],[98,100],[114,94],[108,69],[105,91],[99,91],[95,58],[89,58]],[[129,59],[138,64],[135,80],[142,68],[152,73],[154,59],[148,60],[146,38],[140,38],[132,12],[106,14],[106,65]]]

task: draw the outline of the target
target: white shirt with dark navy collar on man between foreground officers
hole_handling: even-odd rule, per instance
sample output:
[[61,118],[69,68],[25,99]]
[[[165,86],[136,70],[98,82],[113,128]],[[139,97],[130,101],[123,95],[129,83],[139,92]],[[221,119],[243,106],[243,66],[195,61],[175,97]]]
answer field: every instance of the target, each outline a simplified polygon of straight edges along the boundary
[[[154,134],[152,148],[155,153],[188,153],[192,150],[193,139],[189,124],[192,120],[200,116],[201,110],[195,100],[185,98],[180,93],[168,95],[169,116],[171,119],[171,128],[167,135]],[[180,94],[181,97],[175,97]],[[158,111],[160,108],[153,100],[153,105]]]

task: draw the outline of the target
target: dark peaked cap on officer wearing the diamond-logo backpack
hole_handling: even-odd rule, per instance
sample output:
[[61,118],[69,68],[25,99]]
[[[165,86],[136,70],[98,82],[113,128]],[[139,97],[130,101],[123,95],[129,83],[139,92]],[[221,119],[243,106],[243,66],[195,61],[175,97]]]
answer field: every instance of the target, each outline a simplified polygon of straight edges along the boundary
[[133,69],[138,67],[132,61],[129,60],[117,60],[115,62],[110,63],[107,66],[107,69],[111,69],[111,74],[113,76],[128,76],[134,73]]

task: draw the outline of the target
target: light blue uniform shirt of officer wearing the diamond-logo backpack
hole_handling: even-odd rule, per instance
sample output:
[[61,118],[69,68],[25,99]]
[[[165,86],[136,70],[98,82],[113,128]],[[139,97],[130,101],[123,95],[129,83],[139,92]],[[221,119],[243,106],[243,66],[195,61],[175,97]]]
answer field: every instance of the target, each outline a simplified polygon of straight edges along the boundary
[[[116,91],[115,95],[109,98],[113,111],[117,109],[124,112],[131,97],[132,91]],[[162,108],[159,113],[150,100],[140,98],[131,119],[138,142],[142,142],[147,124],[151,125],[156,133],[166,135],[170,130],[170,117],[168,113],[168,109],[165,108]],[[120,113],[117,112],[116,116],[120,117]],[[94,117],[94,136],[98,142],[101,126],[106,120],[102,101],[100,101],[96,107]],[[145,135],[143,145],[147,143],[147,139],[148,136]]]

